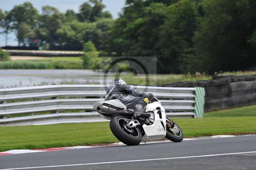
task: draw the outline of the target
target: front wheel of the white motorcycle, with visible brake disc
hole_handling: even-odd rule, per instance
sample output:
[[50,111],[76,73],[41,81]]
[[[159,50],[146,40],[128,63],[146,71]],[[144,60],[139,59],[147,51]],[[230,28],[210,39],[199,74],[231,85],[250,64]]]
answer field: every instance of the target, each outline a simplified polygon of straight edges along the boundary
[[184,136],[180,127],[176,123],[174,123],[174,125],[172,126],[168,126],[167,124],[165,137],[172,142],[181,142]]

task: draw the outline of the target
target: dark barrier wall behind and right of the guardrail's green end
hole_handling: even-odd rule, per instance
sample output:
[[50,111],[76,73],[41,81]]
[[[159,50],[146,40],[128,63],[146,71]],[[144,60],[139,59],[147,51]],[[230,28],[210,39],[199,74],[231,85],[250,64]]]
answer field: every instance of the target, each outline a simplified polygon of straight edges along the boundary
[[256,75],[214,78],[175,82],[162,87],[204,87],[205,112],[256,104]]

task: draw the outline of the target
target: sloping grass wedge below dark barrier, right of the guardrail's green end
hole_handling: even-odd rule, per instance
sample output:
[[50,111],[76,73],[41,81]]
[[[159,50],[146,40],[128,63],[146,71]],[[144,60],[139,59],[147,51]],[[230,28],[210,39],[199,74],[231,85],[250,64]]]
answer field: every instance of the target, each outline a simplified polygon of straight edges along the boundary
[[[242,117],[242,116],[256,116],[256,105],[204,113],[204,118]],[[256,119],[256,117],[255,117],[255,119]]]

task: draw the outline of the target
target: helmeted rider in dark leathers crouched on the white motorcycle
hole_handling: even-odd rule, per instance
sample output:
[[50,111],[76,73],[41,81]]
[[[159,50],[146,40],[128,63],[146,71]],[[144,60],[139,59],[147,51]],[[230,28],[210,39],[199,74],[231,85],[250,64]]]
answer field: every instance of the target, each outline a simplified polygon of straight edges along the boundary
[[126,107],[134,108],[133,116],[135,118],[149,118],[150,114],[143,113],[142,110],[147,105],[148,100],[151,100],[153,97],[152,93],[146,94],[137,91],[128,86],[125,81],[116,79],[113,81],[113,85],[108,86],[105,101],[119,99]]

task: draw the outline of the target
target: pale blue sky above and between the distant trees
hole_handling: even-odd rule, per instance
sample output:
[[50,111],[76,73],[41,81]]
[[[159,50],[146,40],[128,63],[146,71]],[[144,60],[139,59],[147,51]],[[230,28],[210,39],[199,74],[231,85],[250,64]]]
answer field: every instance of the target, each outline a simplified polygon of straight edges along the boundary
[[[31,2],[33,6],[41,13],[42,6],[50,5],[58,8],[60,12],[66,12],[67,9],[72,9],[78,12],[79,6],[87,0],[0,0],[0,9],[3,11],[10,11],[15,5],[23,4],[24,2]],[[103,0],[106,5],[105,11],[109,11],[113,18],[118,18],[118,13],[124,7],[125,0]],[[14,33],[9,34],[8,45],[17,46],[18,42],[15,40]],[[0,47],[5,45],[5,38],[0,35]]]

